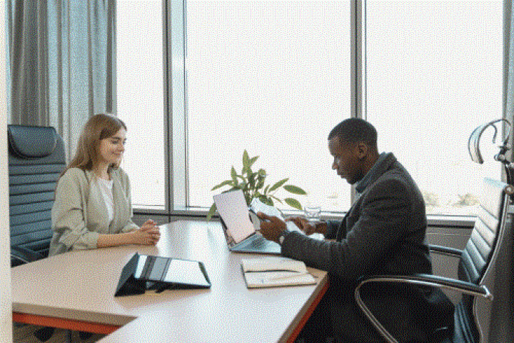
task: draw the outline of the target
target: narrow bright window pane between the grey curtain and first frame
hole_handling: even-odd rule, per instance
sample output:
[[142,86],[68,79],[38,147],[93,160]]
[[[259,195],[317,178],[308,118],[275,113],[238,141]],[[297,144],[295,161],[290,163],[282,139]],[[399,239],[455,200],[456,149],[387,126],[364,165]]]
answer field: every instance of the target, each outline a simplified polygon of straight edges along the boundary
[[161,0],[116,3],[116,71],[117,113],[127,126],[122,168],[131,179],[133,207],[164,209]]

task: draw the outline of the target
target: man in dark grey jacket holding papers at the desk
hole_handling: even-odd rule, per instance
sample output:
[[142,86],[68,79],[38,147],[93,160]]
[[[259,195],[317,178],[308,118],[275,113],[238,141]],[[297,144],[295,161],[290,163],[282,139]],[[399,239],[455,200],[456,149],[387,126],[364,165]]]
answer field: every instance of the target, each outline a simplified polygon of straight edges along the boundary
[[[428,247],[423,244],[427,227],[425,203],[410,174],[393,154],[378,153],[376,129],[363,119],[346,119],[328,136],[332,169],[355,185],[358,198],[341,222],[292,220],[306,234],[324,234],[326,240],[289,232],[277,217],[259,214],[266,222],[261,233],[281,244],[281,254],[308,266],[326,270],[330,287],[303,329],[305,342],[383,342],[363,317],[353,299],[359,277],[366,274],[430,273]],[[431,311],[432,289],[370,285],[363,296],[373,314],[400,342],[424,342],[440,323],[451,325],[452,305]],[[425,325],[420,327],[419,319]],[[442,318],[442,319],[441,319]]]

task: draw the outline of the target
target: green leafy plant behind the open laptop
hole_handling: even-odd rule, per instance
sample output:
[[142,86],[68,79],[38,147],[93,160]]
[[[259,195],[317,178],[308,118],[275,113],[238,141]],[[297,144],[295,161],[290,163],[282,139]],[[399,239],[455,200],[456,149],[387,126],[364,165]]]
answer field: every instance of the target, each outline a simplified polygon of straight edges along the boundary
[[[253,199],[257,198],[264,204],[270,206],[273,206],[275,202],[279,202],[281,204],[285,202],[289,206],[301,210],[301,203],[298,202],[297,199],[286,198],[282,200],[276,196],[276,192],[278,189],[285,189],[291,194],[306,195],[307,193],[300,187],[293,186],[292,184],[286,184],[289,180],[288,178],[281,179],[273,185],[265,185],[266,177],[268,176],[268,174],[266,174],[266,170],[258,169],[257,172],[253,172],[252,170],[252,166],[255,164],[257,159],[258,156],[250,157],[248,156],[248,152],[245,150],[243,152],[243,169],[241,169],[241,174],[237,174],[236,169],[232,166],[231,179],[223,181],[221,184],[217,184],[211,189],[211,191],[221,189],[222,187],[231,187],[230,189],[226,189],[225,192],[241,189],[246,199],[246,204],[248,205],[250,205]],[[207,220],[211,219],[214,212],[216,212],[216,204],[212,204],[211,209],[209,209]]]

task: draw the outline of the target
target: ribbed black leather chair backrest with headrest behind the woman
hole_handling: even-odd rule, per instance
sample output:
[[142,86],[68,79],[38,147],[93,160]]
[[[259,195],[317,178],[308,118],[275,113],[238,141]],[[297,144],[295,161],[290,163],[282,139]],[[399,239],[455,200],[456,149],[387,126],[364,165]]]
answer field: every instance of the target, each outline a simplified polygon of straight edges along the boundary
[[9,125],[7,131],[11,249],[47,257],[54,191],[66,166],[64,143],[53,127]]

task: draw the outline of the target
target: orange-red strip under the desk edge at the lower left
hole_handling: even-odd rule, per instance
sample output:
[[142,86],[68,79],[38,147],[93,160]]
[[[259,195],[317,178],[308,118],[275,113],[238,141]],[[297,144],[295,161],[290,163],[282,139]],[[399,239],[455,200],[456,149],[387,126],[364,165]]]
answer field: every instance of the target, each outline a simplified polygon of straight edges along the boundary
[[55,317],[39,316],[37,314],[26,314],[13,312],[13,322],[41,325],[43,327],[58,327],[73,331],[93,332],[95,334],[110,334],[119,329],[117,325],[84,322],[81,320],[63,319]]

